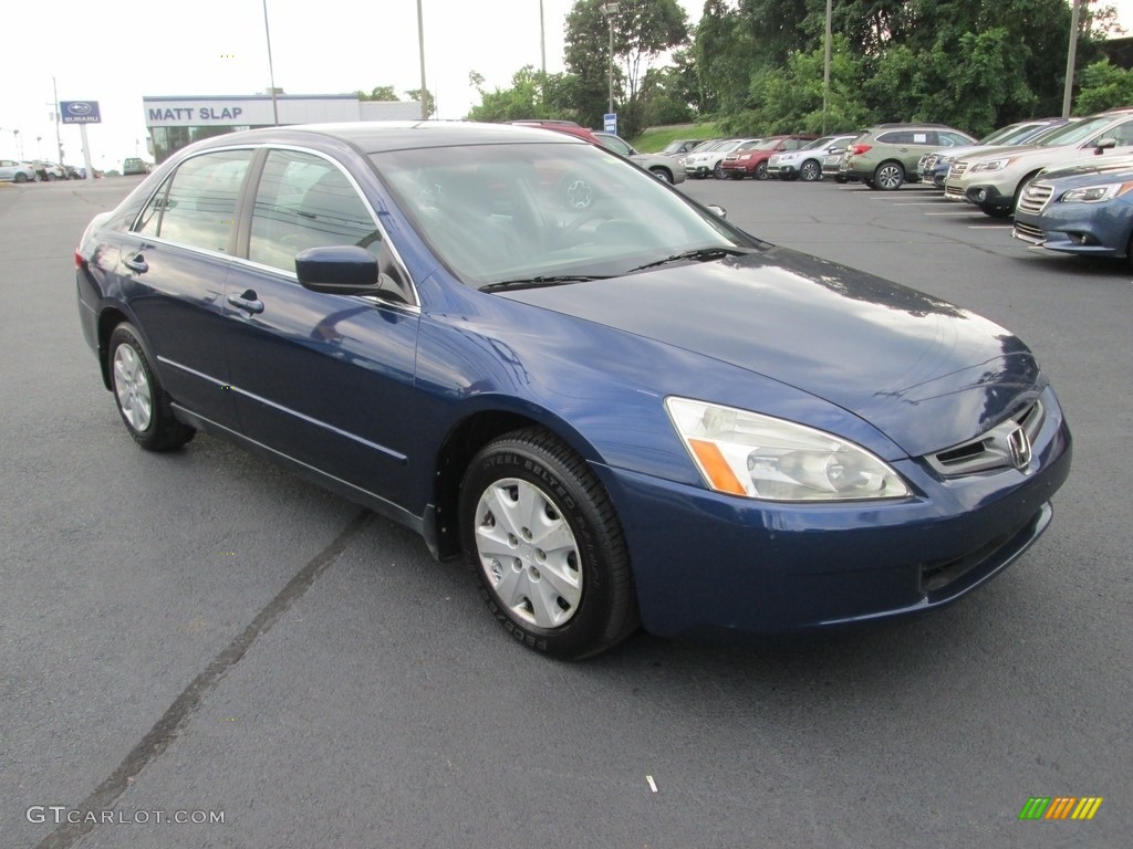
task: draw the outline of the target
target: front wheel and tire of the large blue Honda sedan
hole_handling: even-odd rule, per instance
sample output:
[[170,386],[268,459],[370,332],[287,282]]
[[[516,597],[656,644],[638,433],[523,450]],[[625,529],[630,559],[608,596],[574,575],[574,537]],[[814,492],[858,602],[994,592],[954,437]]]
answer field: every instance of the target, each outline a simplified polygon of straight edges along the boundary
[[461,483],[460,537],[488,609],[529,649],[577,660],[638,627],[613,505],[552,434],[518,430],[480,449]]

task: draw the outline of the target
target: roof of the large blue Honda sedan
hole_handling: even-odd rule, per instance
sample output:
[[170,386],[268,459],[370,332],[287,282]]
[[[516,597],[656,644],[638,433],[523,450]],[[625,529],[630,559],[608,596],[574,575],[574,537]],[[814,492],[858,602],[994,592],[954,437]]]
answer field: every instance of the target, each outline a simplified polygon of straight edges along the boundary
[[[548,136],[550,129],[555,130],[554,136]],[[470,121],[351,121],[242,130],[214,136],[194,149],[270,142],[301,144],[312,136],[344,142],[365,154],[468,144],[546,144],[548,138],[566,144],[588,144],[570,129],[568,126],[552,128]]]

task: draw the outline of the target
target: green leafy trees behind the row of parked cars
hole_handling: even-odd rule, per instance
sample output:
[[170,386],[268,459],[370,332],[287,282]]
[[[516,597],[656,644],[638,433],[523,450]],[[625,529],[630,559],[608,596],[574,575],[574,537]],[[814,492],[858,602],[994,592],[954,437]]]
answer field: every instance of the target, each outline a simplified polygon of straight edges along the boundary
[[[934,121],[983,135],[1062,111],[1071,0],[834,0],[827,92],[826,0],[704,0],[691,43],[676,0],[624,0],[613,19],[603,3],[577,0],[571,9],[566,74],[542,82],[517,75],[512,89],[482,91],[474,115],[522,112],[599,126],[611,24],[614,109],[628,137],[706,118],[736,135],[876,121]],[[1128,75],[1098,61],[1115,20],[1106,0],[1082,2],[1077,113],[1133,103]]]

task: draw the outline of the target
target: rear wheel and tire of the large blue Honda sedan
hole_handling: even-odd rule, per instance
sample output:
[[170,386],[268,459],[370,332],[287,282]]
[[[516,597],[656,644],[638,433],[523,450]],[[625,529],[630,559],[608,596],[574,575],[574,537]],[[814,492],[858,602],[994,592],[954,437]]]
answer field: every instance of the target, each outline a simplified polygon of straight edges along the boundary
[[169,396],[133,325],[123,323],[114,328],[107,361],[118,413],[134,441],[146,451],[172,451],[193,438],[196,431],[173,418]]

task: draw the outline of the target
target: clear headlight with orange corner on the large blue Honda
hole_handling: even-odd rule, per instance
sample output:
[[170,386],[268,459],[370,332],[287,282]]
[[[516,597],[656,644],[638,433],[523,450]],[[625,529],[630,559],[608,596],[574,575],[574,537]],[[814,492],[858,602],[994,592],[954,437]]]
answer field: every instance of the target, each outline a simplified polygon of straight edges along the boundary
[[772,501],[905,498],[901,477],[864,448],[746,410],[670,397],[665,409],[708,486]]

